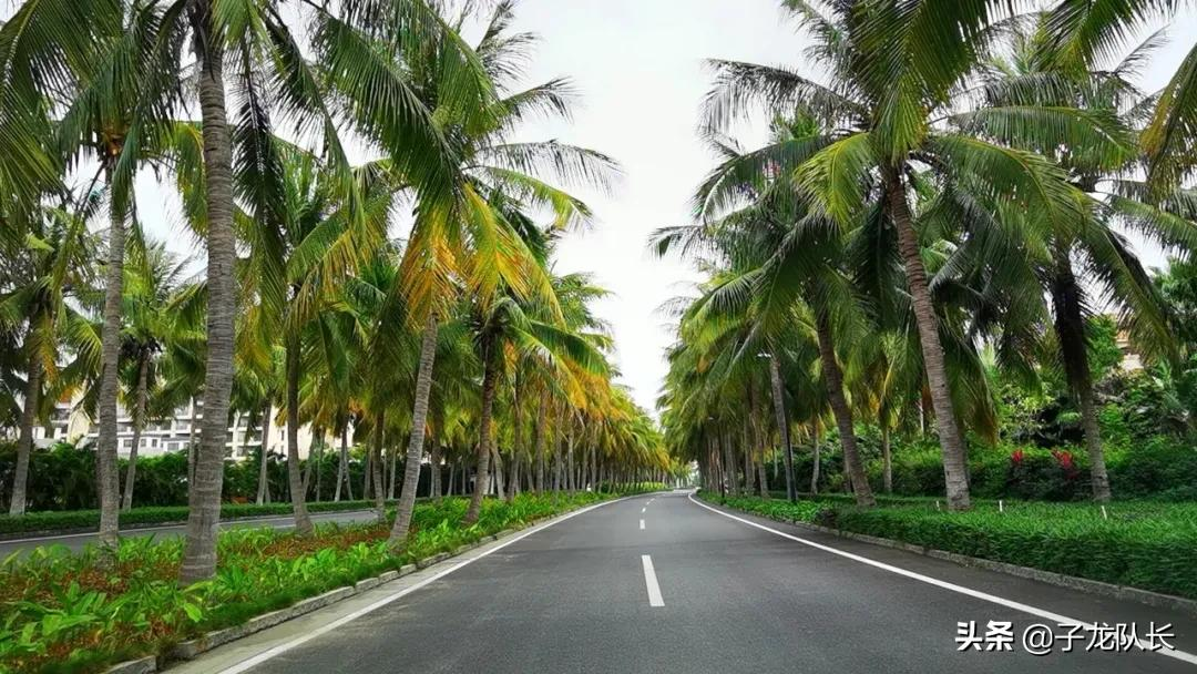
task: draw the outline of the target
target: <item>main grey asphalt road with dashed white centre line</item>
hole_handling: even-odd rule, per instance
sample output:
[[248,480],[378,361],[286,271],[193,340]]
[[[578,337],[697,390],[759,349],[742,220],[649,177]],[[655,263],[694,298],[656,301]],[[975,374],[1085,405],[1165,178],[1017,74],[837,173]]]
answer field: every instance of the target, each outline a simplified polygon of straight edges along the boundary
[[[356,618],[326,619],[326,630],[309,621],[304,633],[262,652],[241,646],[237,657],[247,660],[232,669],[202,660],[192,667],[257,674],[1197,670],[1197,619],[1180,613],[735,517],[682,492],[610,503],[431,575]],[[1180,658],[1086,652],[1088,631],[1073,652],[1059,652],[1059,643],[1041,657],[1023,651],[1028,626],[1068,618],[1134,623],[1141,639],[1152,621],[1172,624]],[[959,651],[960,621],[977,621],[982,636],[989,621],[1011,623],[1011,650]]]

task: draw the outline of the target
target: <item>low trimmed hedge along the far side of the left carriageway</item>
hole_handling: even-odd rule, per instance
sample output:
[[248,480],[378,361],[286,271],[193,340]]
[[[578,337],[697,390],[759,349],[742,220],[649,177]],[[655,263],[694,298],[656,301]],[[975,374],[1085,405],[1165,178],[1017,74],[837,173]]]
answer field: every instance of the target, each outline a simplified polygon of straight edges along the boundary
[[[419,499],[425,500],[425,499]],[[373,508],[373,502],[369,500],[341,500],[341,502],[309,502],[309,512],[341,512],[348,510],[369,510]],[[269,515],[291,515],[290,503],[267,503],[263,505],[225,503],[220,506],[221,520],[237,520],[242,517],[265,517]],[[128,512],[121,512],[121,527],[163,524],[170,522],[183,522],[187,520],[186,505],[162,505],[150,508],[134,508]],[[98,510],[67,510],[28,512],[12,517],[0,515],[0,535],[19,534],[31,532],[65,532],[74,529],[96,529],[99,527]]]

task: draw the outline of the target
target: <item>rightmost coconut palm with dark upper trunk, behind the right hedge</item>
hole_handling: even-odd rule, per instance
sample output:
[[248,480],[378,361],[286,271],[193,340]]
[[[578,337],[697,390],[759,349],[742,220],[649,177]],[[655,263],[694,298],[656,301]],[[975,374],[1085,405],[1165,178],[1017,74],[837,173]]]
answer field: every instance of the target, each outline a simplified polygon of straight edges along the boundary
[[[1058,362],[1081,413],[1089,455],[1093,497],[1111,498],[1098,425],[1093,381],[1088,363],[1087,314],[1090,297],[1120,314],[1122,327],[1146,354],[1174,351],[1167,310],[1125,237],[1126,225],[1165,247],[1186,247],[1197,241],[1197,229],[1181,193],[1153,200],[1150,186],[1132,176],[1141,163],[1135,138],[1143,116],[1144,96],[1134,83],[1147,56],[1159,45],[1159,34],[1112,65],[1089,55],[1076,40],[1061,41],[1052,32],[1053,17],[1034,14],[1015,25],[1009,55],[995,57],[980,79],[984,104],[958,115],[953,122],[971,133],[1040,153],[1068,170],[1074,187],[1092,199],[1081,223],[1050,223],[1039,229],[1016,212],[1002,219],[985,217],[973,204],[988,204],[983,194],[960,195],[967,183],[941,193],[947,218],[966,223],[970,236],[958,250],[954,267],[988,267],[989,295],[1016,300],[1007,308],[1007,332],[1034,329],[1050,322]],[[1094,120],[1094,135],[1068,126],[1020,122],[1028,108],[1075,109]],[[1177,199],[1179,198],[1179,199]],[[946,206],[952,204],[952,206]],[[996,210],[994,212],[997,212]],[[1017,226],[1011,226],[1017,223]],[[1004,268],[997,268],[1004,266]],[[1004,291],[996,286],[1008,286]],[[1047,311],[1034,299],[1049,297]],[[1014,323],[1021,323],[1016,326]],[[1026,338],[1019,338],[1028,341]],[[1011,354],[1008,350],[998,356]],[[1022,358],[1021,353],[1013,354]],[[1003,363],[1013,365],[1003,358]]]

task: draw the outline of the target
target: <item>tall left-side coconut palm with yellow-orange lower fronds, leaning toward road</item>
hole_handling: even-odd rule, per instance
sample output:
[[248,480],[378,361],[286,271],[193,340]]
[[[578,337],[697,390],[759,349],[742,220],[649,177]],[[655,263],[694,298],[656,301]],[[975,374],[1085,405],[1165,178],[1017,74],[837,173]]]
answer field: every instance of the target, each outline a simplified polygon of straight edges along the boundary
[[[534,38],[522,34],[508,35],[511,12],[511,2],[499,2],[475,47],[491,81],[504,92],[521,77],[521,62]],[[420,61],[409,59],[408,62]],[[445,97],[446,83],[442,68],[425,68],[418,71],[417,77],[423,83],[421,99],[445,120],[443,128],[454,132],[462,180],[457,188],[460,199],[419,213],[400,268],[400,289],[411,315],[423,317],[423,336],[403,490],[390,538],[393,545],[406,539],[411,523],[424,455],[438,311],[444,311],[446,300],[452,297],[454,280],[468,287],[484,305],[504,296],[539,296],[551,300],[548,275],[517,231],[518,223],[508,215],[519,211],[519,207],[543,207],[554,214],[558,227],[583,223],[590,215],[589,208],[536,176],[558,178],[566,184],[607,187],[616,170],[614,162],[590,150],[557,141],[511,140],[512,132],[529,115],[560,116],[567,113],[571,92],[566,80],[551,80],[504,95],[485,110],[485,123],[475,125],[462,120],[455,108],[448,105],[450,101]],[[484,310],[484,314],[487,312],[488,309]],[[484,357],[497,358],[498,354],[484,351]],[[480,444],[488,448],[488,443]],[[490,457],[484,459],[480,448],[480,478],[486,475],[488,462]]]

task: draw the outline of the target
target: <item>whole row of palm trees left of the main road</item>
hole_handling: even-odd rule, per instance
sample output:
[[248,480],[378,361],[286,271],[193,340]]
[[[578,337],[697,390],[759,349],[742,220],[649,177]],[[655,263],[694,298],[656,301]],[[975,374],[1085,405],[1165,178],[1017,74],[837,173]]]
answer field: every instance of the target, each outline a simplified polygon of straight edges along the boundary
[[[609,188],[619,168],[517,140],[528,119],[567,117],[575,96],[566,79],[521,86],[534,36],[511,19],[508,1],[22,4],[0,26],[0,334],[5,375],[22,383],[11,512],[25,506],[38,411],[72,387],[98,418],[105,545],[122,388],[139,425],[156,413],[148,400],[202,401],[183,583],[215,569],[237,409],[285,411],[256,423],[286,425],[302,534],[302,424],[342,438],[339,484],[347,429],[369,433],[379,511],[383,448],[408,433],[394,546],[426,438],[435,466],[473,448],[480,486],[504,449],[508,496],[529,481],[522,461],[535,463],[527,486],[547,488],[548,456],[564,456],[548,468],[567,488],[668,469],[652,424],[612,383],[610,338],[591,312],[602,291],[552,263],[558,237],[591,218],[567,189]],[[370,159],[351,162],[350,146]],[[133,186],[147,170],[177,188],[203,242],[199,281],[141,232]]]

